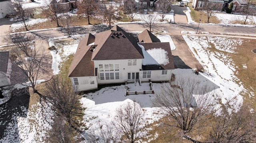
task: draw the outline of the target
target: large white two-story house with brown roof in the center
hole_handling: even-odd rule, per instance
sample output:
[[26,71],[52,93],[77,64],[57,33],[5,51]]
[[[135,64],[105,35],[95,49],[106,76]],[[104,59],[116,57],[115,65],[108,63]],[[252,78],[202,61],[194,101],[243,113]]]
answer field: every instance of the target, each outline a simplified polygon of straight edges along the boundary
[[74,90],[84,91],[126,80],[168,81],[172,69],[169,42],[161,43],[148,30],[137,36],[115,25],[79,42],[68,77]]

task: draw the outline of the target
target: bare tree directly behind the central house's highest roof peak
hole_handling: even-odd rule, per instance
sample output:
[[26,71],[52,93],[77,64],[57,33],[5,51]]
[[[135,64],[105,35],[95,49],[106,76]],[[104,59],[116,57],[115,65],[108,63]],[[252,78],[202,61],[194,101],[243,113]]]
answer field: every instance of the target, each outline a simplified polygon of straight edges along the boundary
[[114,24],[114,21],[119,17],[118,10],[111,3],[101,4],[99,14],[102,16],[102,20],[108,24],[109,29],[111,29],[111,25]]

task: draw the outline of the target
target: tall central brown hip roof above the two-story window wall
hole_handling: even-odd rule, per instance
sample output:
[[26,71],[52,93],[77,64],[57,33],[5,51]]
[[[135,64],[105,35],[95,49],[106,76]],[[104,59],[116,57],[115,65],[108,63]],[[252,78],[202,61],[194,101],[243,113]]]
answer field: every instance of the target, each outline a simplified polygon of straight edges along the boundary
[[92,60],[144,59],[136,38],[116,25],[114,30],[98,33],[92,52]]

